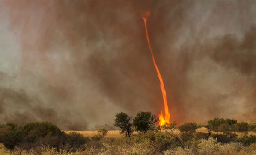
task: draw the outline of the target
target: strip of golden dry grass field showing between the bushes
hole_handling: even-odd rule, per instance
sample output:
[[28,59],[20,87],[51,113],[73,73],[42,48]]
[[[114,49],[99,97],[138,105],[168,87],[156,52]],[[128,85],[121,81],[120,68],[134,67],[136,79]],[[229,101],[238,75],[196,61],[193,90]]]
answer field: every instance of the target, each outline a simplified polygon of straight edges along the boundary
[[[77,132],[80,133],[81,135],[83,135],[84,137],[92,137],[94,135],[97,134],[97,131],[74,131],[74,130],[66,130],[66,133],[70,133],[70,132]],[[179,135],[180,131],[179,129],[173,129],[173,130],[169,130],[168,132],[172,132],[173,134]],[[196,129],[196,132],[208,132],[207,129],[205,127]],[[136,133],[136,132],[135,132]],[[222,132],[212,132],[214,134],[221,134]],[[244,132],[232,132],[238,135],[238,137],[243,137],[244,136]],[[250,135],[255,135],[256,136],[256,132],[248,132],[248,136]],[[123,135],[120,134],[119,130],[110,130],[107,132],[106,138],[119,138],[122,137]]]

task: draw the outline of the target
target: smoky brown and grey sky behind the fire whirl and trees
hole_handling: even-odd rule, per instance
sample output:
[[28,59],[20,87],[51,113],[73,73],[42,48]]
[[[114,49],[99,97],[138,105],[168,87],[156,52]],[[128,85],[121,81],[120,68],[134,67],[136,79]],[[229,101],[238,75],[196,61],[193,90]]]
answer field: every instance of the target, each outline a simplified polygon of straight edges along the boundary
[[62,129],[113,124],[164,108],[171,119],[250,120],[256,113],[256,2],[0,2],[0,123]]

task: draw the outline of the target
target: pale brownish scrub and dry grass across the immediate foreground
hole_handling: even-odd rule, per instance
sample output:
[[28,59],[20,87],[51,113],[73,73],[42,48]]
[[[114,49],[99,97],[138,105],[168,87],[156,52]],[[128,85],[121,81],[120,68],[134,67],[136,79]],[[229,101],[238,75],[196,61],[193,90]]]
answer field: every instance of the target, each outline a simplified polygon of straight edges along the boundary
[[[119,131],[115,131],[116,135]],[[167,131],[149,131],[145,134],[137,133],[131,137],[90,140],[79,149],[57,149],[51,146],[36,146],[24,150],[22,147],[7,149],[0,144],[1,155],[253,155],[256,154],[256,143],[243,145],[231,141],[220,143],[217,138],[193,138],[179,141],[181,135],[174,136]]]

